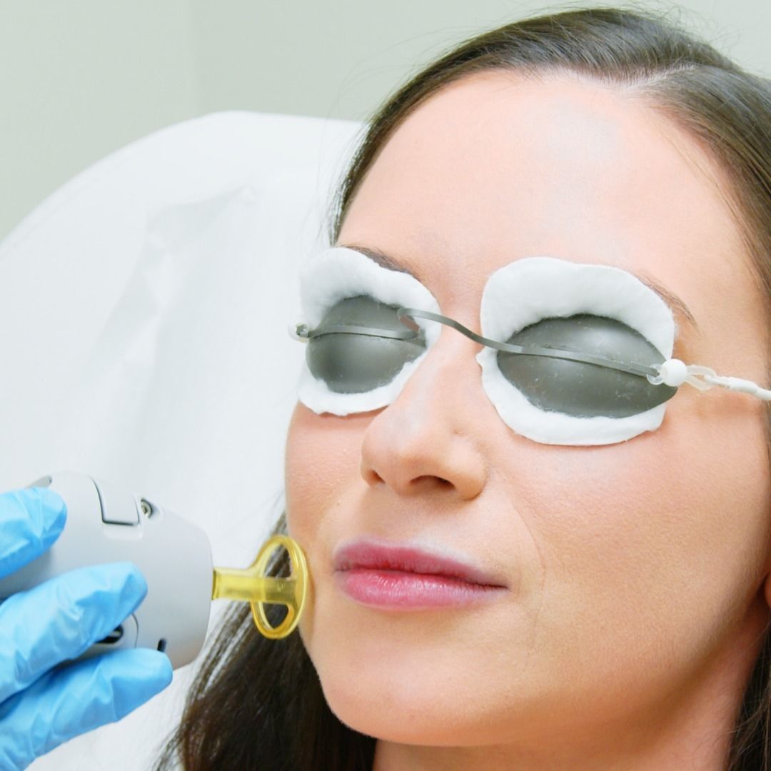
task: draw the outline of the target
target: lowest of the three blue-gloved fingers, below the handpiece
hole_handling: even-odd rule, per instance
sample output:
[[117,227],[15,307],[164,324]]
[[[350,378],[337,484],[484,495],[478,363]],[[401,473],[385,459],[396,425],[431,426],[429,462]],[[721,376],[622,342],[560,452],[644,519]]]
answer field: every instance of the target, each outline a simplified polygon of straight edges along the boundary
[[150,648],[110,651],[49,672],[0,704],[0,768],[24,769],[75,736],[120,720],[171,682]]

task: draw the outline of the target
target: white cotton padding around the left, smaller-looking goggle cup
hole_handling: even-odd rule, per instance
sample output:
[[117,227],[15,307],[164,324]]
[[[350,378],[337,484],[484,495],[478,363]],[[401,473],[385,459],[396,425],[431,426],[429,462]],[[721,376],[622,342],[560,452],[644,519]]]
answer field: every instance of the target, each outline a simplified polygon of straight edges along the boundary
[[[345,298],[366,295],[385,305],[439,313],[436,298],[416,278],[407,273],[382,268],[365,254],[348,247],[329,247],[312,257],[300,273],[300,302],[303,322],[309,329],[321,324],[327,311]],[[350,415],[389,405],[401,392],[412,372],[425,359],[439,338],[442,325],[416,318],[426,335],[426,352],[407,362],[396,378],[364,393],[331,391],[323,380],[312,375],[306,363],[300,373],[298,398],[317,414]]]

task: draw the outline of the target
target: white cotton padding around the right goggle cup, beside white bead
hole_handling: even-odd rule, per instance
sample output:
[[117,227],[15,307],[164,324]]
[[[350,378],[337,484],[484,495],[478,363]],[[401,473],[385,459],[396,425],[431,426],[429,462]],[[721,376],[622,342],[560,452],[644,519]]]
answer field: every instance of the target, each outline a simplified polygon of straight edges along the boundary
[[[480,309],[482,335],[499,342],[530,324],[578,313],[615,318],[648,339],[665,359],[672,356],[675,320],[655,291],[634,275],[610,265],[581,264],[554,257],[523,258],[487,280]],[[534,406],[498,369],[497,351],[476,355],[482,384],[500,418],[534,442],[561,445],[613,444],[653,431],[666,402],[625,418],[579,418]]]

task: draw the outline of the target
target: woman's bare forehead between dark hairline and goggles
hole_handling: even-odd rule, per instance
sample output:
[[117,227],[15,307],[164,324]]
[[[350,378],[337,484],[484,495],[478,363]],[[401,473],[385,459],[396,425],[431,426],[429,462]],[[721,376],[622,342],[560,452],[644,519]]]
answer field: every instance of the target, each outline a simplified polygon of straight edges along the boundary
[[466,77],[416,109],[338,241],[391,254],[446,309],[478,307],[492,271],[544,254],[648,275],[697,318],[736,284],[742,251],[718,170],[672,123],[597,83],[513,72]]

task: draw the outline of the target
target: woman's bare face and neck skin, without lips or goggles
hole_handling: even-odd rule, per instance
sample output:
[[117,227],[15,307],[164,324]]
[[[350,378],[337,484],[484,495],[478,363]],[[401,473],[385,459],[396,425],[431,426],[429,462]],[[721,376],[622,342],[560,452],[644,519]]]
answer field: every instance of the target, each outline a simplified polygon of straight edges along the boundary
[[[485,72],[386,144],[338,243],[392,254],[481,333],[490,273],[549,255],[642,271],[698,321],[674,355],[764,383],[763,298],[695,140],[641,96]],[[443,327],[389,406],[317,415],[286,449],[314,581],[301,635],[333,712],[389,769],[722,769],[769,618],[765,406],[683,385],[662,426],[604,446],[517,435],[480,346]],[[503,576],[469,608],[383,611],[332,551],[420,539]]]

